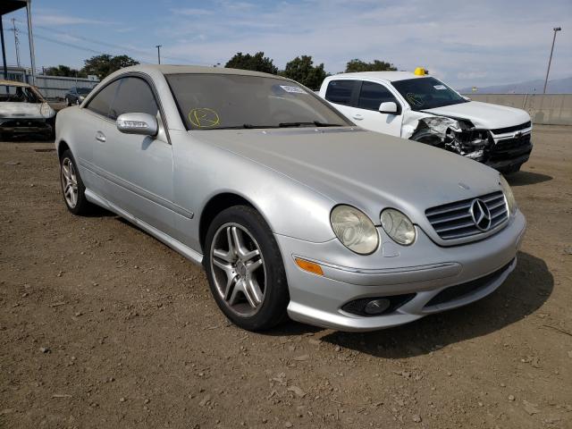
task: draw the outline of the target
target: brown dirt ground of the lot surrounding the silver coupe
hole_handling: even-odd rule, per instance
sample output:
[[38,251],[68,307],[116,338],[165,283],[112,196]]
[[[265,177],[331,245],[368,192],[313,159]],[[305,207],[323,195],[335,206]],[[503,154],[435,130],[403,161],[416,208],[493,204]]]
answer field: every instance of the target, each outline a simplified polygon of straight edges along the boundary
[[571,428],[572,129],[534,145],[509,177],[526,240],[490,297],[380,332],[254,334],[200,267],[69,214],[52,144],[0,143],[0,427]]

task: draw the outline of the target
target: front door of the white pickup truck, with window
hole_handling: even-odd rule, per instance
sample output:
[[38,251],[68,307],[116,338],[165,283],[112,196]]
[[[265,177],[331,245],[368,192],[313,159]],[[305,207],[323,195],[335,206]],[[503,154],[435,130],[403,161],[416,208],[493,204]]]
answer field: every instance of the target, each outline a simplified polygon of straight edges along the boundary
[[[398,108],[397,114],[381,113],[379,106],[385,102],[395,103]],[[389,88],[378,82],[364,80],[359,88],[355,112],[350,117],[366,130],[400,137],[401,122],[403,121],[402,111],[400,102]]]

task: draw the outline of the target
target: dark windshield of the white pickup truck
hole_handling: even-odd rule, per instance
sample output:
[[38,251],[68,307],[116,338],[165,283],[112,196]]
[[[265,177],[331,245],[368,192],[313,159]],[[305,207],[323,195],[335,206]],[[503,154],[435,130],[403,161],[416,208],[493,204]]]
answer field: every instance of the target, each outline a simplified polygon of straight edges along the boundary
[[434,109],[443,105],[458,105],[467,100],[435,78],[415,78],[391,82],[413,110]]

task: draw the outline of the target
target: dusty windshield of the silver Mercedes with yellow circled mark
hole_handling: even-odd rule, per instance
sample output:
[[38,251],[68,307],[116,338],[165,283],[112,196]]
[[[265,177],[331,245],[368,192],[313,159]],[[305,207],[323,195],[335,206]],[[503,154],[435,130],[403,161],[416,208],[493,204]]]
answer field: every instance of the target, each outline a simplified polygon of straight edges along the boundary
[[351,125],[290,80],[195,73],[166,78],[188,130]]

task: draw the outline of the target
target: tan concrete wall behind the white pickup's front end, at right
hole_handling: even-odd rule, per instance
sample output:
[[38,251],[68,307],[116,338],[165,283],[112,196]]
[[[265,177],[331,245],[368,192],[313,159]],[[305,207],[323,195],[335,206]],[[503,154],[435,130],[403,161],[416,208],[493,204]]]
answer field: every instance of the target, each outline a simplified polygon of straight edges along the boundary
[[509,105],[530,114],[534,123],[572,125],[572,94],[466,94],[475,101]]

